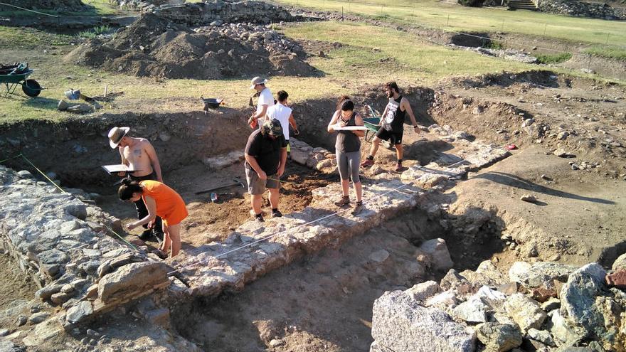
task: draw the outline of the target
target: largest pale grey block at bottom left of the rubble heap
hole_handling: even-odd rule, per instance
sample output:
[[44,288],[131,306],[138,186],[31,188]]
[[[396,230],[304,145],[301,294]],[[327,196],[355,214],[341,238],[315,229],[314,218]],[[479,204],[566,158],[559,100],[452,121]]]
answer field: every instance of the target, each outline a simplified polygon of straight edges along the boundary
[[474,351],[476,334],[444,311],[420,306],[404,292],[387,292],[373,304],[372,337],[392,351]]

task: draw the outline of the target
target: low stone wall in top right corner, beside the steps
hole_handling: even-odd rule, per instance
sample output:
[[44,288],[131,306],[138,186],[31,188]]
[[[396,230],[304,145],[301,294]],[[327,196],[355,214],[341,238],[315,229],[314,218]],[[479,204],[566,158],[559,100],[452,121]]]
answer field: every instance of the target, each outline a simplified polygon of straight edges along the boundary
[[606,20],[625,20],[626,11],[608,4],[574,0],[541,0],[539,11],[569,16],[603,18]]

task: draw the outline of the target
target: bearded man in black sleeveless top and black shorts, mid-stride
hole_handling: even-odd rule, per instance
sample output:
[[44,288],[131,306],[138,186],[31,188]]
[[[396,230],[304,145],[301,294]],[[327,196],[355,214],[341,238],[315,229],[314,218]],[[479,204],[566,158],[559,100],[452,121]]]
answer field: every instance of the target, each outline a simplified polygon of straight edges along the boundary
[[404,150],[402,148],[402,137],[404,134],[404,117],[408,114],[411,123],[413,124],[413,131],[420,133],[418,122],[415,121],[415,115],[411,110],[410,102],[406,97],[400,95],[400,88],[396,82],[388,82],[385,85],[385,92],[389,98],[389,102],[385,107],[385,111],[381,115],[381,128],[376,132],[376,137],[372,141],[372,146],[369,151],[369,156],[365,161],[361,163],[361,166],[368,167],[374,164],[374,155],[378,151],[378,146],[381,141],[390,141],[396,148],[396,156],[398,162],[396,163],[395,171],[402,171],[402,157]]

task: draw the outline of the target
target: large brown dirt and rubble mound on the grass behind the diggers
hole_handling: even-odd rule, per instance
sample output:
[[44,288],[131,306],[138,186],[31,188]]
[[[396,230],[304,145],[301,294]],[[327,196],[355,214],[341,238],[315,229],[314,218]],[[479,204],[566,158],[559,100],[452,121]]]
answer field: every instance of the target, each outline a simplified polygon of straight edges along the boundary
[[190,28],[145,14],[109,41],[87,41],[66,60],[137,76],[221,79],[318,75],[304,50],[265,26]]

